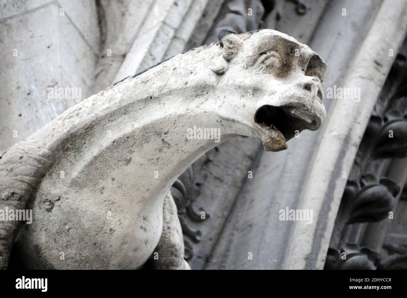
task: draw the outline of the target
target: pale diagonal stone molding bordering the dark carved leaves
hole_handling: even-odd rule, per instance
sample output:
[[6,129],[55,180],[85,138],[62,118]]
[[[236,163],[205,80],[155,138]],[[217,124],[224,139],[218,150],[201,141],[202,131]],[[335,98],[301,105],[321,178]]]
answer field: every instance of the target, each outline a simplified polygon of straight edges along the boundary
[[[392,6],[393,4],[397,4],[397,7]],[[382,2],[341,84],[343,87],[360,87],[363,99],[360,102],[340,99],[332,101],[333,104],[329,108],[332,111],[330,120],[326,124],[323,137],[315,143],[317,153],[309,167],[311,173],[307,174],[308,181],[303,188],[301,204],[297,207],[313,209],[317,224],[295,226],[286,268],[324,267],[334,227],[333,219],[337,215],[346,186],[346,179],[341,178],[341,174],[343,171],[350,173],[371,111],[394,62],[395,57],[389,56],[388,49],[398,49],[405,39],[406,30],[400,31],[399,26],[390,25],[388,20],[396,18],[400,23],[406,24],[406,10],[407,3],[404,1]],[[374,61],[378,61],[380,65]],[[381,176],[383,175],[378,175]],[[393,177],[391,179],[394,180]],[[314,237],[317,237],[317,240],[307,240]]]

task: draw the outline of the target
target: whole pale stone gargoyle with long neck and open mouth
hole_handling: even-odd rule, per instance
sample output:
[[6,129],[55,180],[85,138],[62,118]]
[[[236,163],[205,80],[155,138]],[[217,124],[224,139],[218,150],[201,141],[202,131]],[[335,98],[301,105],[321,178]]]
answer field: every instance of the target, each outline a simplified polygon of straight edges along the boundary
[[33,221],[3,212],[0,268],[189,269],[169,189],[219,143],[188,129],[284,150],[325,120],[325,72],[288,35],[226,29],[68,109],[1,154],[0,210],[32,210]]

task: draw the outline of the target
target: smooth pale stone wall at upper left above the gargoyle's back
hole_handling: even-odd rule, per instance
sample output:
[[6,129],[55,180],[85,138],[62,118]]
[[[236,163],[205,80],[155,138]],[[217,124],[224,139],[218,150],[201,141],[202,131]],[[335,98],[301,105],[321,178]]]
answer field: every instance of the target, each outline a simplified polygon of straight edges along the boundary
[[[90,90],[96,53],[83,32],[98,33],[92,23],[75,24],[70,9],[57,1],[0,1],[0,150],[30,134],[76,104],[76,98],[48,98],[48,88],[81,89],[81,99]],[[94,15],[91,5],[74,11],[74,19]],[[96,32],[95,32],[96,30]],[[63,59],[61,59],[63,57]]]

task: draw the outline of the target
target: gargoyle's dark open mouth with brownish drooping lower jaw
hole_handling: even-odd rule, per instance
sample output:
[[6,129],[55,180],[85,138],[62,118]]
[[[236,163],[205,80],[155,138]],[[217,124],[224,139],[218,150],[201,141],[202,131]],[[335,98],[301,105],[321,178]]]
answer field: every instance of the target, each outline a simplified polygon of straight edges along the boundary
[[264,149],[274,152],[287,149],[287,141],[302,130],[316,129],[315,119],[295,107],[264,105],[256,111],[254,122],[262,133]]

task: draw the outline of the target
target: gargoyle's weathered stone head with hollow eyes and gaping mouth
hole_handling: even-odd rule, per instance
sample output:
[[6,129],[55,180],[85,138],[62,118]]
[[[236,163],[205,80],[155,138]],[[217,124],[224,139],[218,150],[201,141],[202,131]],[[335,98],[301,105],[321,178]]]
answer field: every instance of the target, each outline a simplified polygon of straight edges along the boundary
[[265,150],[287,149],[289,139],[324,122],[321,82],[327,65],[308,46],[269,29],[239,35],[221,30],[217,46],[221,57],[211,70],[222,83],[246,89],[250,126]]

